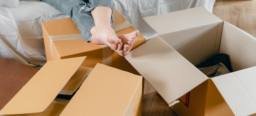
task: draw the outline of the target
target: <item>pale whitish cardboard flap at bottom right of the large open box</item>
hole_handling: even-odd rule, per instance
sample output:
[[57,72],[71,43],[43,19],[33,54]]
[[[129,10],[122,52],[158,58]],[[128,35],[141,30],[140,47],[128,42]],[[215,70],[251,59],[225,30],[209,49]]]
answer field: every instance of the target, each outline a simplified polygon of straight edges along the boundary
[[212,78],[236,116],[256,113],[256,67]]

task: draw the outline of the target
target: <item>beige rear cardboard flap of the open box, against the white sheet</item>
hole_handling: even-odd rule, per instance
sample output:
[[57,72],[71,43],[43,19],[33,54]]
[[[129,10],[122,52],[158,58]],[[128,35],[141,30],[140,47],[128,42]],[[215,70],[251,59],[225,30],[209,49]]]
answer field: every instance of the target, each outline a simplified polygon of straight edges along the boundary
[[160,35],[222,21],[203,7],[149,16],[143,20]]

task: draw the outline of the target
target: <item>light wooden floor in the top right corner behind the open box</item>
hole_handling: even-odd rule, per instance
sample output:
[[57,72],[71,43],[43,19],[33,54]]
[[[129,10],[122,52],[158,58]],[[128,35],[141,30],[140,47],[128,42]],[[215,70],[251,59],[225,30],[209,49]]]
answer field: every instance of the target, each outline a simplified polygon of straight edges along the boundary
[[256,37],[256,0],[216,0],[213,14]]

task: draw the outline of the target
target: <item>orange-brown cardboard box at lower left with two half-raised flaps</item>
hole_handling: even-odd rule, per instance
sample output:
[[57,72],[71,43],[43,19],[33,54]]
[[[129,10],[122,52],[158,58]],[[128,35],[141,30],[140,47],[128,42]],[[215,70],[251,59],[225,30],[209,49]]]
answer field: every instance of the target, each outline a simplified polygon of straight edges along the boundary
[[140,116],[142,76],[103,64],[93,68],[70,101],[56,98],[70,78],[77,75],[81,64],[87,62],[85,58],[48,61],[4,106],[0,115]]

